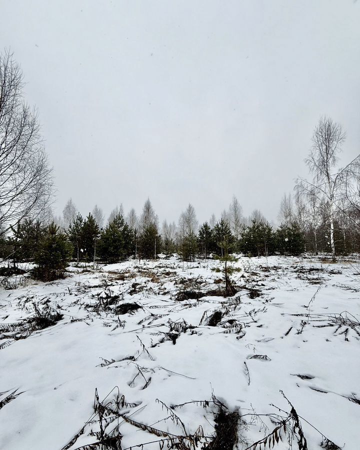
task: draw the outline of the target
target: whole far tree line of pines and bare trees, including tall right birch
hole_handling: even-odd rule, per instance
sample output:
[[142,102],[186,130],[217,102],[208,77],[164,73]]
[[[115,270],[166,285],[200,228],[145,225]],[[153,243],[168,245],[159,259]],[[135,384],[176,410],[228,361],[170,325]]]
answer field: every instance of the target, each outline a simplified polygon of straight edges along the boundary
[[116,206],[104,225],[101,208],[82,217],[69,199],[62,217],[40,220],[29,215],[10,225],[1,237],[1,255],[17,262],[37,263],[36,275],[52,279],[63,273],[68,260],[113,263],[128,257],[156,259],[159,254],[196,257],[298,255],[305,251],[346,254],[360,251],[360,176],[358,157],[344,168],[336,163],[344,134],[340,125],[321,118],[313,134],[313,146],[305,162],[310,179],[298,179],[294,194],[284,194],[278,220],[270,224],[259,210],[244,217],[233,196],[216,221],[198,225],[192,204],[181,212],[178,223],[161,227],[149,199],[138,217],[132,208],[125,216]]

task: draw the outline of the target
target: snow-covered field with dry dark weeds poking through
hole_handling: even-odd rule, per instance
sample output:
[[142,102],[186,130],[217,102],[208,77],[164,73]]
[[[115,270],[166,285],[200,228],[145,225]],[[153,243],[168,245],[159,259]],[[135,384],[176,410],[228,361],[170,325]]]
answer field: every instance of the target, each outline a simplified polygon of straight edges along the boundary
[[358,450],[358,260],[232,266],[227,298],[221,262],[175,257],[1,289],[1,450]]

